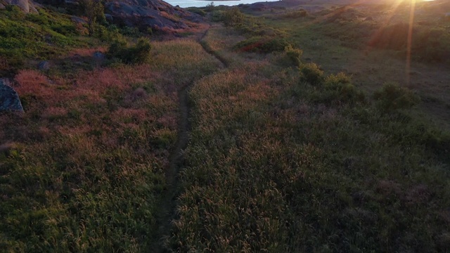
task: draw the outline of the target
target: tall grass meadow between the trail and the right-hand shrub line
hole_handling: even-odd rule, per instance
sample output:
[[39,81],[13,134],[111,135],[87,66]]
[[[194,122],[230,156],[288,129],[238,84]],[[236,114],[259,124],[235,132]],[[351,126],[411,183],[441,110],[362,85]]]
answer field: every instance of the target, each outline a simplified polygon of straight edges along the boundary
[[[448,133],[300,80],[281,56],[232,53],[191,91],[179,252],[445,252]],[[221,43],[217,43],[221,41]]]

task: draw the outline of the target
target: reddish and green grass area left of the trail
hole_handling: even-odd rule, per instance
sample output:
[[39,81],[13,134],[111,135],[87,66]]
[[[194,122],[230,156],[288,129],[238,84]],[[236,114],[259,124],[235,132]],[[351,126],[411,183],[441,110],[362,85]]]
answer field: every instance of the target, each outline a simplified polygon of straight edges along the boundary
[[[26,43],[46,30],[34,26]],[[0,115],[0,248],[146,252],[159,240],[176,91],[219,63],[191,40],[155,42],[153,61],[133,66],[98,68],[96,48],[56,50],[49,71],[15,68],[25,114]]]

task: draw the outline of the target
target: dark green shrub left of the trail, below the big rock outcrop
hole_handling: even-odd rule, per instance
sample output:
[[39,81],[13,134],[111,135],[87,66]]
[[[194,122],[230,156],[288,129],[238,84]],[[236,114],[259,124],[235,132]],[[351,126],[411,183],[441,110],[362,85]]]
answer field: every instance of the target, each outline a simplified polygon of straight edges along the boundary
[[107,55],[119,59],[122,63],[146,63],[150,60],[151,48],[148,39],[141,38],[134,46],[128,46],[124,39],[116,39],[108,48]]

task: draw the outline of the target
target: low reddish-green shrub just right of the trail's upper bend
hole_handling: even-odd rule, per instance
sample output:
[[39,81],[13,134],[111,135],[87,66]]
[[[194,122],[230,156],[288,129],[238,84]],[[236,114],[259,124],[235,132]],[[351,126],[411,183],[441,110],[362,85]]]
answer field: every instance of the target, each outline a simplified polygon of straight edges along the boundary
[[288,45],[283,38],[252,37],[238,42],[234,48],[245,52],[271,53],[283,51]]

